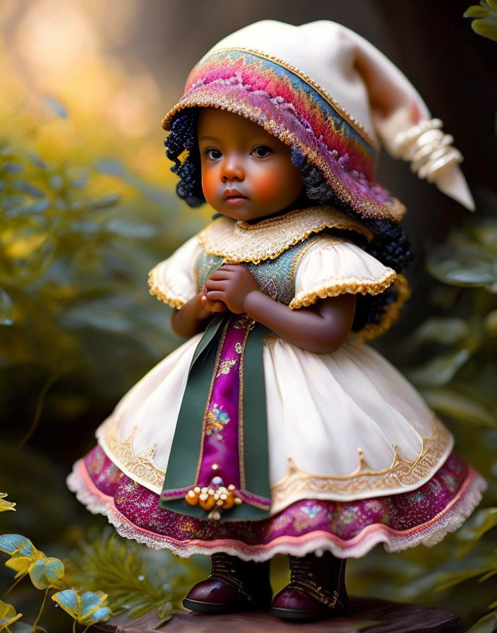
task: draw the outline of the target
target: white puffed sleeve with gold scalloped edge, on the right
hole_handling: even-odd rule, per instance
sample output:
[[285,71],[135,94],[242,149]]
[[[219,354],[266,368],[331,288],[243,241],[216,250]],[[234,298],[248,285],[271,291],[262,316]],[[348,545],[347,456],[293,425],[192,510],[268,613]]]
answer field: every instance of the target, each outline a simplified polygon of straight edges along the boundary
[[396,276],[393,268],[383,266],[354,242],[333,236],[318,237],[297,268],[295,297],[289,307],[306,307],[345,292],[377,295]]

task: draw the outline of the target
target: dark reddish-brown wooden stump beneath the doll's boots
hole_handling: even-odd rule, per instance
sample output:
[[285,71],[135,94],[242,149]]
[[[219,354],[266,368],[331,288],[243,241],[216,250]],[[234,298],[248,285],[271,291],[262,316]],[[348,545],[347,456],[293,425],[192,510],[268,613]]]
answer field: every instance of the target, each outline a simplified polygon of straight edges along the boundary
[[434,607],[352,598],[350,613],[321,622],[283,622],[268,613],[203,615],[176,611],[168,620],[147,614],[139,620],[119,617],[88,633],[459,633],[457,615]]

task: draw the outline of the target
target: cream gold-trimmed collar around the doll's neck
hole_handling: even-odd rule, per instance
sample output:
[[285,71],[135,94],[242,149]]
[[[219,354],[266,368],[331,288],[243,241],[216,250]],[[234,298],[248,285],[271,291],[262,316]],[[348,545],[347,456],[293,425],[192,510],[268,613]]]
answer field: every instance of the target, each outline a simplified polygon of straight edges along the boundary
[[372,237],[368,228],[345,213],[329,206],[316,206],[295,209],[256,224],[217,218],[197,235],[197,241],[208,254],[224,257],[232,264],[242,261],[259,264],[264,259],[275,259],[312,233],[327,228],[354,231],[366,239]]

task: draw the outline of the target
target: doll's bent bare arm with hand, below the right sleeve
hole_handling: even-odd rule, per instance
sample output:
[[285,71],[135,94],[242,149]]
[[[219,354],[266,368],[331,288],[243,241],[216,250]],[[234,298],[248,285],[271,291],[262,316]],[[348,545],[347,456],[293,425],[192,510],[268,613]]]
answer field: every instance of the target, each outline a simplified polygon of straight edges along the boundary
[[264,295],[248,268],[236,264],[225,264],[212,273],[203,293],[203,304],[222,301],[232,312],[246,312],[285,341],[316,354],[339,348],[354,319],[354,295],[323,299],[312,307],[291,310]]

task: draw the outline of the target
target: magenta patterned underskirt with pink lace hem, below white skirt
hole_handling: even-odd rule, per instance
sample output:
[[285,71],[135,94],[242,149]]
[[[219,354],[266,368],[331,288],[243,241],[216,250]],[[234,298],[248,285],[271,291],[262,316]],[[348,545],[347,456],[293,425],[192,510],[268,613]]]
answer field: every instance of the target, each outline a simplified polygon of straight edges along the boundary
[[76,462],[68,477],[78,499],[95,514],[107,515],[121,536],[184,557],[222,551],[257,561],[316,550],[361,557],[378,543],[388,552],[434,545],[465,521],[485,485],[453,453],[431,480],[411,492],[352,502],[304,499],[268,519],[220,522],[162,509],[159,496],[124,475],[100,446]]

